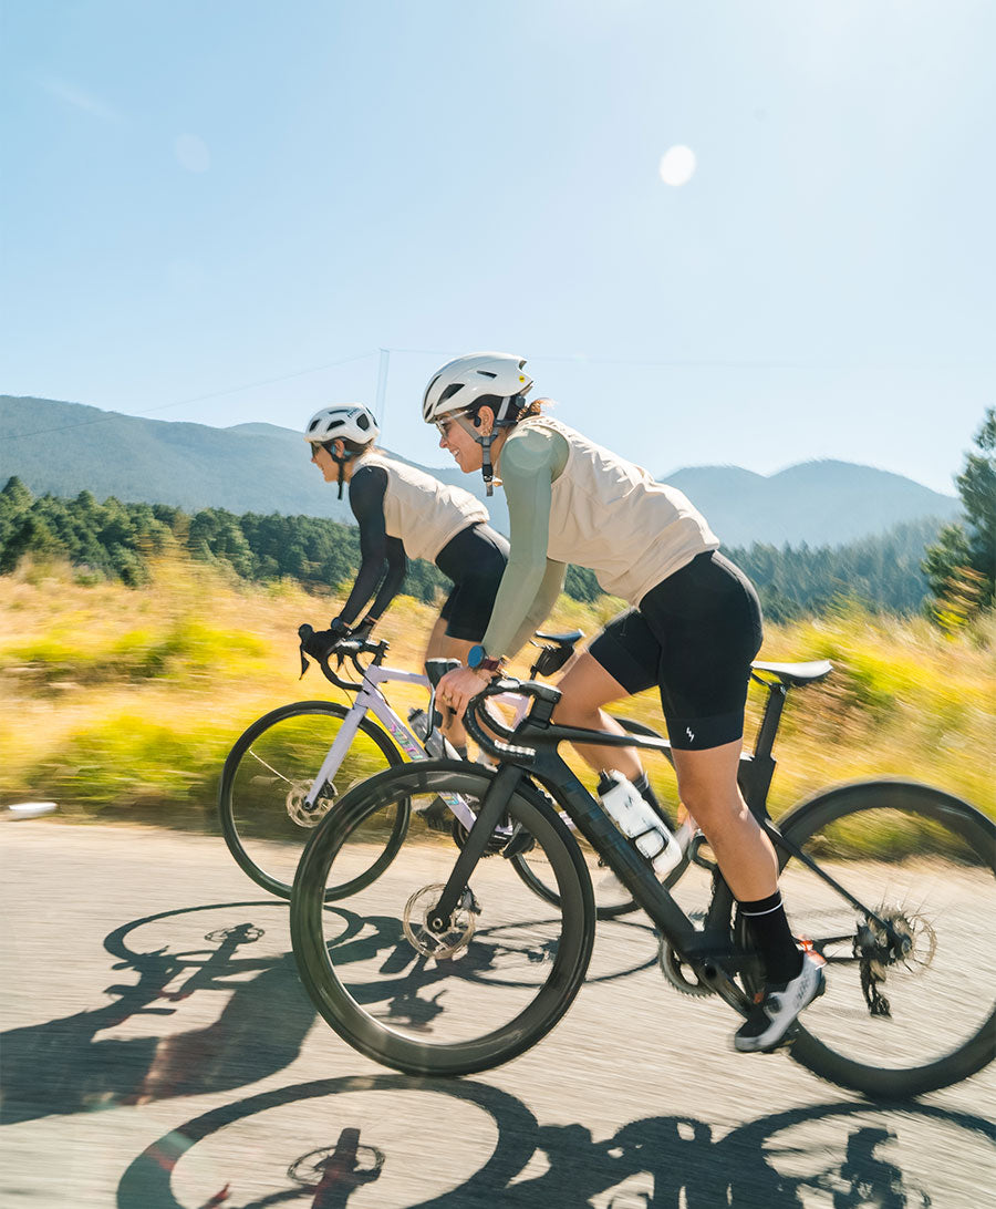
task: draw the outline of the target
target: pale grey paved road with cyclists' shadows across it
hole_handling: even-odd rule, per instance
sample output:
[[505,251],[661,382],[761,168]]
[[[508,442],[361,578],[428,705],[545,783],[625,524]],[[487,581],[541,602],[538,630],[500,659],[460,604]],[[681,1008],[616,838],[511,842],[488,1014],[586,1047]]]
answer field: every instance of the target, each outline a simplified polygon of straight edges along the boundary
[[996,1068],[898,1110],[737,1057],[639,916],[600,926],[540,1046],[433,1082],[315,1020],[285,904],[220,839],[40,820],[0,844],[5,1207],[991,1203]]

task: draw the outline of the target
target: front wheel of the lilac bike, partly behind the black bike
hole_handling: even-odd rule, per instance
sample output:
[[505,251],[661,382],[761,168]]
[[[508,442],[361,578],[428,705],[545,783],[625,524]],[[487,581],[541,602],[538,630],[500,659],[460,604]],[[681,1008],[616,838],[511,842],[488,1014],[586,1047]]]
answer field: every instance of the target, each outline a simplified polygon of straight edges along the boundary
[[[280,898],[290,898],[305,844],[346,791],[401,763],[401,753],[388,735],[369,718],[361,718],[342,762],[322,786],[315,809],[309,811],[305,796],[347,713],[336,701],[282,705],[254,722],[225,760],[218,796],[225,843],[243,872]],[[377,877],[406,826],[407,812],[401,808],[364,875]]]

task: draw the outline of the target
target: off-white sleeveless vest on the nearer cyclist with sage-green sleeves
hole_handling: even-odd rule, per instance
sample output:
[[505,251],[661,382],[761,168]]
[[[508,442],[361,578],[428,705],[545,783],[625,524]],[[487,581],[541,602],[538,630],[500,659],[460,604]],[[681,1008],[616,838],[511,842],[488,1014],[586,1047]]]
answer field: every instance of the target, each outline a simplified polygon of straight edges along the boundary
[[560,433],[571,450],[552,487],[548,557],[589,567],[607,592],[639,604],[696,554],[719,546],[677,487],[655,482],[557,420],[532,416],[516,426],[528,428]]

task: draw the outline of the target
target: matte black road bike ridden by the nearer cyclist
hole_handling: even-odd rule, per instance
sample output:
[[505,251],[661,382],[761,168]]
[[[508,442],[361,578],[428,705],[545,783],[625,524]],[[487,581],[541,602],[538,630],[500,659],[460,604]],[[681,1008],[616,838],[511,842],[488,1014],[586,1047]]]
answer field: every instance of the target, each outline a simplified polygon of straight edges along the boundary
[[[787,694],[830,671],[826,661],[754,664],[768,698],[740,769],[778,854],[797,941],[826,964],[826,993],[786,1046],[841,1087],[911,1097],[966,1078],[996,1054],[996,828],[967,803],[904,780],[827,789],[776,827],[765,803]],[[514,730],[487,710],[488,698],[509,692],[531,700]],[[347,793],[313,833],[291,897],[299,971],[325,1020],[376,1062],[412,1075],[487,1070],[563,1016],[585,979],[596,918],[564,817],[649,915],[674,987],[718,995],[741,1014],[759,990],[758,956],[703,840],[689,854],[711,879],[696,919],[677,901],[681,883],[672,893],[654,878],[557,751],[571,741],[666,752],[666,742],[555,725],[558,696],[542,683],[494,682],[465,723],[500,760],[497,771],[454,760],[388,769]],[[440,793],[475,803],[459,852],[413,821],[389,867],[344,899],[347,909],[325,903],[330,884],[370,863],[384,817]],[[494,851],[500,820],[513,833]],[[506,857],[523,844],[543,856],[549,902],[509,869]]]

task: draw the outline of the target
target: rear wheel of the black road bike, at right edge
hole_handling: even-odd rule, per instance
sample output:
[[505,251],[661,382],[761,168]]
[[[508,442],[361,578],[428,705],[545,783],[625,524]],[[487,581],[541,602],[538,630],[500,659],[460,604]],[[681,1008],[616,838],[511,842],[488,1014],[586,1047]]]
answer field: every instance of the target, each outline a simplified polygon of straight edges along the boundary
[[801,1060],[828,1065],[827,1077],[911,1093],[963,1077],[955,1072],[968,1053],[991,1057],[996,878],[986,823],[973,815],[939,809],[926,789],[903,798],[873,787],[816,811],[809,834],[791,831],[871,913],[799,862],[782,874],[793,931],[827,959],[826,994],[801,1017],[795,1046]]

